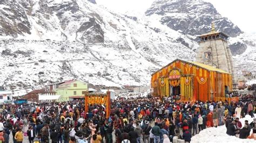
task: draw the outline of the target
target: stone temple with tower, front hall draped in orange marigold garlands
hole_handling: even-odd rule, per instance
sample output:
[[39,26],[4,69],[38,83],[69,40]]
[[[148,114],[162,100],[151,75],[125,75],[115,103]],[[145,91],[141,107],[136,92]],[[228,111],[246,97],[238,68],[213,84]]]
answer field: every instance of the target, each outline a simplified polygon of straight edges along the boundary
[[[215,31],[199,36],[196,61],[176,59],[151,77],[153,96],[178,96],[181,101],[225,99],[232,91],[233,61],[228,36]],[[232,76],[233,75],[233,76]]]

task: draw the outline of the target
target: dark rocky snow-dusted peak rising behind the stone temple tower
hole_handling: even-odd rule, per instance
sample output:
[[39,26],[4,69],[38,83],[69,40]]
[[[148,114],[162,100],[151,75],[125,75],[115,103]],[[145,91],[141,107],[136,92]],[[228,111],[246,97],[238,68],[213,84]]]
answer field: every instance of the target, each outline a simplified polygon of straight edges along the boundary
[[221,16],[211,3],[201,0],[156,0],[145,15],[157,17],[161,24],[189,35],[209,32],[214,22],[218,31],[230,36],[228,42],[237,73],[240,74],[241,70],[256,72],[256,34],[242,32],[231,20]]

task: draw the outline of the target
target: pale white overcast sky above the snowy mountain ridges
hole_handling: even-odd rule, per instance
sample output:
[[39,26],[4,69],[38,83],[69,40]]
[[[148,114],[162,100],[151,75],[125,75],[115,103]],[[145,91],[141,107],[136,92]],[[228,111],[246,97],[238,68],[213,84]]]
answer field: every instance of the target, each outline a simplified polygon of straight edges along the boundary
[[[134,11],[143,13],[154,0],[96,0],[97,4],[119,13]],[[238,25],[242,31],[256,33],[256,0],[205,0],[217,11]]]

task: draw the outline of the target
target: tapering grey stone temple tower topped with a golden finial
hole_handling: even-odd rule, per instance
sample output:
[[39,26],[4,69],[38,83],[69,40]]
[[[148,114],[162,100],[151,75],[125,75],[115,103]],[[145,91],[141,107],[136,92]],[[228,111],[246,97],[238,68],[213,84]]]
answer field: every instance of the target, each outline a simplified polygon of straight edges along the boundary
[[211,32],[199,35],[199,48],[196,61],[215,68],[223,69],[232,74],[233,90],[237,88],[234,74],[233,58],[227,45],[228,35],[215,31],[212,23]]

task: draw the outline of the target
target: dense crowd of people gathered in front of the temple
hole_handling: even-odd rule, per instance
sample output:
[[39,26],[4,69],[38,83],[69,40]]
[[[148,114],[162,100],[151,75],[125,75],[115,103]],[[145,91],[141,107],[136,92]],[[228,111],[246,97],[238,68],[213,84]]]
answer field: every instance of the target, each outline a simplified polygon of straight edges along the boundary
[[[111,101],[111,116],[104,105],[84,101],[51,104],[4,104],[0,107],[0,141],[23,142],[190,142],[207,127],[226,125],[228,135],[254,138],[256,119],[242,127],[239,119],[253,117],[252,102],[185,102],[159,98],[118,98]],[[253,130],[253,134],[250,131]],[[12,138],[10,138],[12,134]]]

